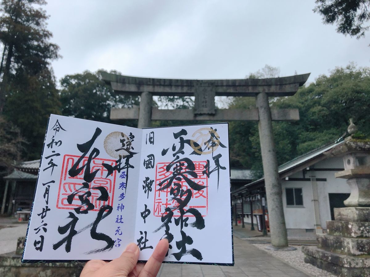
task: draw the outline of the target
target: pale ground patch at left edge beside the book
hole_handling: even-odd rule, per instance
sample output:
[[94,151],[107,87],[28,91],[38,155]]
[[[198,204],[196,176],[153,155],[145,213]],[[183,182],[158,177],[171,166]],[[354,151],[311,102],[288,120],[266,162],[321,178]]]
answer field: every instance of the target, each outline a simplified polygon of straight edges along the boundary
[[0,254],[16,251],[18,238],[26,236],[26,223],[11,226],[0,229]]

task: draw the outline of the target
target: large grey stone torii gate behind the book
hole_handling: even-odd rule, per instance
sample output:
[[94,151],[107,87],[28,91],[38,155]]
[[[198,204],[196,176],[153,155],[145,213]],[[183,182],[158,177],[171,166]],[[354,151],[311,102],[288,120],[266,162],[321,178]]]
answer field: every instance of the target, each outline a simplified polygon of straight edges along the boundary
[[[299,120],[298,109],[270,109],[268,97],[292,96],[310,73],[268,79],[185,80],[141,78],[101,72],[116,93],[140,95],[140,106],[112,109],[111,119],[138,119],[138,128],[151,120],[254,120],[258,121],[266,198],[269,205],[271,243],[287,247],[282,188],[277,171],[272,120]],[[194,109],[152,108],[152,96],[194,96]],[[256,97],[256,109],[216,109],[215,96]]]

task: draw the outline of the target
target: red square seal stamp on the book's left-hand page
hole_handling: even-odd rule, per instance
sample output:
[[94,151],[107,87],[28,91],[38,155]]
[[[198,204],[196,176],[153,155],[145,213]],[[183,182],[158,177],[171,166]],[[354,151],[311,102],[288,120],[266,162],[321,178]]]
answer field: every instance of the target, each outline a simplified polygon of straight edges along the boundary
[[[89,184],[88,189],[82,189],[82,183],[84,182],[84,171],[85,168],[75,177],[71,177],[68,174],[68,171],[71,169],[73,164],[80,158],[80,156],[76,155],[64,155],[63,157],[63,165],[62,165],[62,173],[60,176],[60,183],[59,183],[59,190],[58,190],[58,199],[57,199],[57,209],[74,209],[81,206],[81,201],[78,198],[79,195],[83,195],[85,192],[90,191],[91,196],[88,197],[90,202],[95,206],[94,209],[91,211],[99,211],[101,206],[104,205],[113,205],[113,199],[114,199],[114,184],[115,184],[115,178],[117,171],[113,171],[111,175],[109,175],[107,178],[108,171],[107,169],[102,165],[102,163],[110,164],[114,166],[116,164],[115,160],[108,160],[108,159],[101,159],[101,158],[95,158],[91,161],[90,164],[90,172],[99,170],[92,182]],[[82,161],[80,162],[79,167],[83,167],[88,161],[88,157],[84,157]],[[100,196],[100,191],[98,189],[93,189],[94,187],[104,187],[107,189],[108,192],[108,201],[101,201],[97,200]],[[81,189],[81,190],[79,190]],[[72,193],[77,192],[76,195],[74,195],[72,204],[69,204],[67,202],[67,197],[71,195]],[[81,209],[83,211],[85,206]]]

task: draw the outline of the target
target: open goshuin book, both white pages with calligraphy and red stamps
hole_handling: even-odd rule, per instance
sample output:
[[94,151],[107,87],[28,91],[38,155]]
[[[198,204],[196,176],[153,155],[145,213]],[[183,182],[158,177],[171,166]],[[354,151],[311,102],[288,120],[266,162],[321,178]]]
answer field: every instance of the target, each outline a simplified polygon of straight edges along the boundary
[[137,129],[52,114],[22,262],[233,265],[228,124]]

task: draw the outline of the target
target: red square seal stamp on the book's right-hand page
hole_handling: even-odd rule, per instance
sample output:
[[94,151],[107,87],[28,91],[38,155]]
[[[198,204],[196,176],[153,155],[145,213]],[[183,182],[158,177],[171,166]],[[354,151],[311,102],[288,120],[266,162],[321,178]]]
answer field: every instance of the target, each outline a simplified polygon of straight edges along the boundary
[[[159,189],[161,187],[164,187],[166,184],[168,184],[168,181],[165,181],[164,184],[159,186],[159,183],[162,182],[164,179],[167,179],[173,175],[174,167],[171,168],[170,171],[166,171],[166,166],[170,164],[168,163],[158,163],[157,167],[155,169],[155,194],[154,194],[154,216],[162,216],[162,214],[165,211],[165,208],[173,208],[174,206],[177,206],[176,200],[172,200],[172,195],[170,195],[171,187],[160,191]],[[183,163],[183,162],[182,162]],[[185,163],[185,162],[184,162]],[[206,216],[208,212],[208,177],[206,174],[203,174],[203,171],[205,169],[207,162],[206,161],[194,161],[196,174],[198,177],[194,178],[188,174],[184,174],[186,177],[191,179],[192,181],[196,182],[199,185],[207,186],[200,191],[194,191],[189,185],[186,183],[184,178],[181,178],[181,181],[174,181],[181,184],[181,189],[184,191],[186,189],[191,189],[192,196],[191,200],[189,201],[188,205],[185,206],[184,210],[186,211],[189,208],[195,208],[197,209],[202,216]],[[181,172],[185,172],[185,166],[182,167]],[[185,196],[181,199],[185,199]],[[166,214],[166,213],[165,213]],[[174,211],[174,217],[179,217],[180,212],[178,210]],[[193,216],[193,215],[186,215],[186,216]]]

